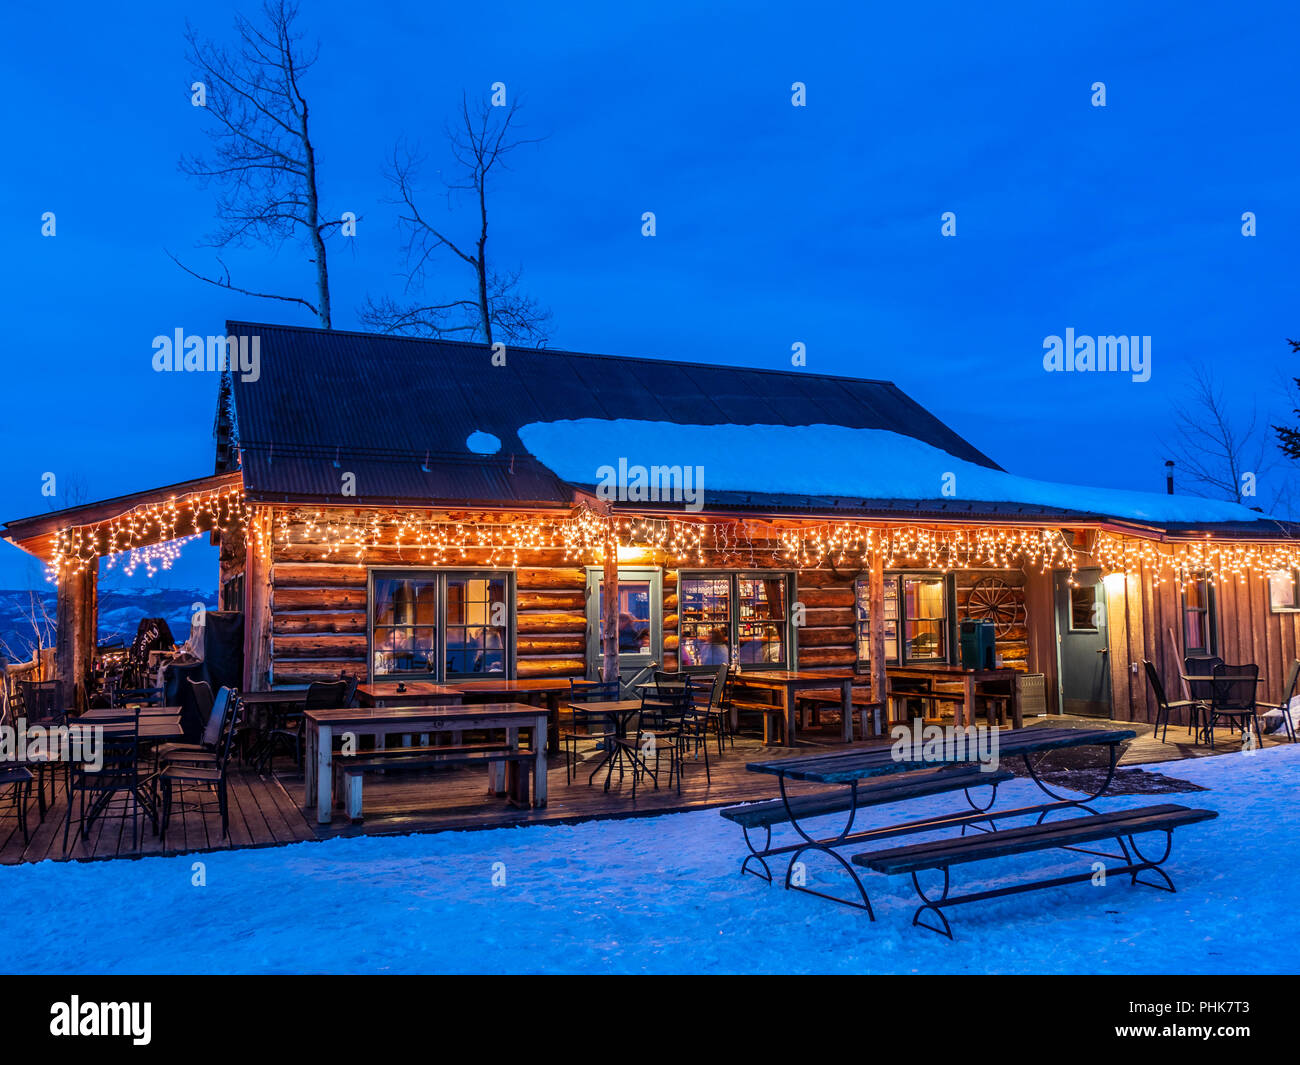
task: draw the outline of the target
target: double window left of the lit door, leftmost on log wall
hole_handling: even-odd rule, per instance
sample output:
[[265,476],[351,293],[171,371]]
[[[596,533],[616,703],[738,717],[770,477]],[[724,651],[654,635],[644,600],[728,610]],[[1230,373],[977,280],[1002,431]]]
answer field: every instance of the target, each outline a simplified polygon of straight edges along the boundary
[[370,674],[447,680],[508,674],[510,573],[376,572],[370,594]]

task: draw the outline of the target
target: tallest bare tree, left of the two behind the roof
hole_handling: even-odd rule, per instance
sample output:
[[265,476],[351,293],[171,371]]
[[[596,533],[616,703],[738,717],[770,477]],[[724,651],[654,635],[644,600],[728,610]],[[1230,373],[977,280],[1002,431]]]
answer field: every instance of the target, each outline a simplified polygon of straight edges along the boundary
[[[217,229],[204,246],[218,251],[221,270],[208,276],[168,255],[192,277],[234,293],[298,303],[330,328],[329,264],[325,238],[343,220],[326,220],[320,207],[320,176],[308,124],[303,75],[316,62],[318,47],[303,48],[294,27],[298,7],[268,0],[261,23],[235,17],[238,42],[228,49],[200,40],[186,25],[187,59],[202,82],[212,157],[186,156],[181,169],[208,187],[216,185]],[[316,296],[256,291],[235,285],[220,251],[251,243],[278,248],[296,239],[316,267]]]

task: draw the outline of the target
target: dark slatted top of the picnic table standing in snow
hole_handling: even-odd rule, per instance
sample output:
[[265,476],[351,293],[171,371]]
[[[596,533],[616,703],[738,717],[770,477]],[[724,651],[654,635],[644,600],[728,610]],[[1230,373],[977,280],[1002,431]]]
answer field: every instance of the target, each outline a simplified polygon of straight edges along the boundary
[[[1072,746],[1108,746],[1136,739],[1136,736],[1138,733],[1131,728],[1053,728],[1048,726],[1008,728],[997,733],[997,754],[998,758],[1006,758],[1008,756],[1063,750]],[[792,758],[776,758],[771,762],[750,762],[745,769],[750,772],[788,776],[792,780],[848,784],[868,776],[933,769],[940,765],[974,765],[976,761],[976,758],[900,761],[894,757],[892,746],[874,746],[837,754],[797,754]]]

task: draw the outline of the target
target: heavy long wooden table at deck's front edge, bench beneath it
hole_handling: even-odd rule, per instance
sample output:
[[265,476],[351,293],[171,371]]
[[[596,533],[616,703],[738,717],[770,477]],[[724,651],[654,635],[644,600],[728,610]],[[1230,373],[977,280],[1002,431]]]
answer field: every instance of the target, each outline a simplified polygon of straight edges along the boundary
[[[508,744],[519,744],[519,730],[533,730],[533,805],[546,805],[546,718],[545,710],[517,702],[489,702],[474,706],[370,706],[346,710],[307,710],[307,758],[303,763],[304,802],[315,802],[316,822],[329,824],[334,815],[334,737],[410,736],[412,733],[463,732],[500,728]],[[491,791],[504,789],[504,765],[489,771]]]

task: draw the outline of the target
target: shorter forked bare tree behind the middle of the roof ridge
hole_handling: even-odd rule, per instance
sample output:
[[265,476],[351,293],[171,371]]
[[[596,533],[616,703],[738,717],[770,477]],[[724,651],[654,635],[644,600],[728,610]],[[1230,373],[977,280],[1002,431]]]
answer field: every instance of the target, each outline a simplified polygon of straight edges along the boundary
[[[390,203],[402,208],[406,286],[403,299],[367,299],[359,315],[368,328],[421,337],[478,337],[489,345],[498,338],[536,347],[546,343],[550,311],[523,293],[520,270],[495,270],[488,256],[489,183],[510,169],[506,159],[511,152],[540,139],[517,135],[519,107],[517,100],[510,107],[494,107],[490,100],[472,107],[462,95],[459,122],[446,130],[456,163],[455,176],[443,179],[447,207],[458,194],[473,200],[473,243],[452,241],[443,224],[421,209],[417,186],[425,160],[403,144],[393,150],[385,177],[395,190]],[[443,252],[473,272],[472,295],[438,303],[412,295],[422,294],[433,263]]]

